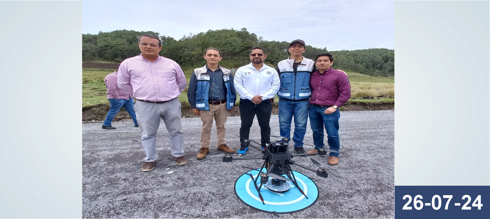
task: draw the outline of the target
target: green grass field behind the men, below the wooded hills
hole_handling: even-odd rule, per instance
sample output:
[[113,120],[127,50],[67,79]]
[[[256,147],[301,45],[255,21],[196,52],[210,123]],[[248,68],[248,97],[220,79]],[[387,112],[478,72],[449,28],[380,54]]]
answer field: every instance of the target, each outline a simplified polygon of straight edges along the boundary
[[[109,103],[107,100],[104,78],[116,69],[82,68],[82,106]],[[191,79],[193,68],[184,68],[187,84]],[[378,96],[394,99],[394,78],[374,77],[356,72],[347,72],[351,86],[352,98]],[[179,96],[180,102],[187,102],[187,88]],[[237,102],[239,97],[237,97]],[[278,98],[275,99],[278,101]]]

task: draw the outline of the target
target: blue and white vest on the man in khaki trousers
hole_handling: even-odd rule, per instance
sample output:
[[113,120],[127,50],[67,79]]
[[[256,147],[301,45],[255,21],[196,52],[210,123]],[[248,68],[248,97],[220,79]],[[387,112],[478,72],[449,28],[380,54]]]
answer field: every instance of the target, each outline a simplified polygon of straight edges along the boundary
[[[224,87],[226,87],[226,110],[235,105],[235,96],[231,94],[230,70],[221,67],[223,72]],[[209,111],[209,82],[211,77],[207,73],[206,66],[194,69],[197,78],[196,109]]]

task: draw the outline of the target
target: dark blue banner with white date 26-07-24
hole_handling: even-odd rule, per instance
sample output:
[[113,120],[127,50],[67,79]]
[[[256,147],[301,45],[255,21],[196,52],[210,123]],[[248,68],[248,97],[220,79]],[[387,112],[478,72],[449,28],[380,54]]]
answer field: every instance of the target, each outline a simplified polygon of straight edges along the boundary
[[395,186],[395,218],[488,218],[490,186]]

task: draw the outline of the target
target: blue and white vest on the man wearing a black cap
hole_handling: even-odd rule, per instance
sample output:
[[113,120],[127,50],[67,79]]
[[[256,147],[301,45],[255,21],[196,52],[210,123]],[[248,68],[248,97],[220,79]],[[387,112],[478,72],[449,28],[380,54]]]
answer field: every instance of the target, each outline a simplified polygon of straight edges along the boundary
[[296,75],[293,69],[294,59],[286,59],[277,64],[281,87],[277,96],[286,100],[303,100],[311,97],[310,74],[315,62],[303,57]]

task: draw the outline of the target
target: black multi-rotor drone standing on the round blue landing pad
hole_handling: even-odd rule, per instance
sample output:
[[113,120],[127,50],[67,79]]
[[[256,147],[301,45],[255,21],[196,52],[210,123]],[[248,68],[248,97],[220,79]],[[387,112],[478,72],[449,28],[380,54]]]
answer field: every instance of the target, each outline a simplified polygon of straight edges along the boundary
[[[236,135],[238,136],[238,135]],[[239,136],[240,137],[240,136]],[[313,165],[318,167],[317,170],[308,168],[306,166],[303,166],[301,164],[296,163],[293,158],[295,156],[305,156],[305,155],[326,155],[327,152],[335,152],[335,153],[340,153],[339,151],[331,150],[331,149],[319,149],[318,153],[308,153],[308,154],[292,154],[290,151],[288,151],[288,146],[289,146],[289,141],[290,138],[287,137],[282,137],[282,136],[272,136],[270,137],[275,137],[275,138],[281,138],[281,140],[277,141],[270,141],[269,144],[266,144],[266,147],[262,150],[261,144],[252,140],[252,139],[244,139],[244,142],[251,148],[254,148],[258,151],[260,151],[263,155],[260,157],[241,157],[241,158],[236,158],[231,156],[230,154],[209,154],[206,156],[222,156],[223,157],[223,162],[232,162],[234,160],[253,160],[253,159],[259,159],[259,160],[264,160],[262,167],[260,169],[255,169],[251,167],[246,167],[242,166],[243,168],[251,169],[258,171],[259,174],[254,177],[250,173],[245,173],[246,175],[250,175],[251,180],[253,181],[253,184],[255,185],[255,189],[257,190],[257,194],[260,197],[260,200],[262,201],[262,204],[266,204],[264,201],[264,198],[262,197],[261,194],[261,189],[264,188],[266,190],[269,190],[270,192],[273,193],[286,193],[293,187],[296,187],[299,192],[306,198],[308,199],[309,197],[303,192],[303,190],[299,187],[298,181],[296,177],[294,176],[293,169],[291,168],[292,165],[298,166],[301,168],[304,168],[306,170],[312,171],[316,173],[318,176],[326,178],[329,175],[334,178],[335,180],[339,180],[336,176],[334,176],[332,173],[329,171],[325,170],[323,166],[313,158],[310,158],[312,161]],[[294,139],[294,138],[293,138]],[[255,146],[253,144],[258,145]],[[304,144],[306,145],[306,144]],[[307,146],[312,146],[312,145],[307,145]],[[267,170],[264,172],[264,168]],[[260,180],[260,185],[257,186],[257,181]],[[264,185],[264,186],[263,186]],[[238,194],[237,194],[238,195]],[[260,209],[259,209],[260,210]],[[276,214],[276,212],[273,212]]]

